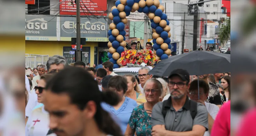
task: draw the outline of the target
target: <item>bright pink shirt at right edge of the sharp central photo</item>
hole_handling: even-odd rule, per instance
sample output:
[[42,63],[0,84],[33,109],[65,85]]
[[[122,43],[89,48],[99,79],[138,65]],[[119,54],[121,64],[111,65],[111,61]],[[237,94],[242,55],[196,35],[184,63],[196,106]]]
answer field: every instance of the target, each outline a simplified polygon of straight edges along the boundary
[[230,101],[220,108],[213,123],[211,136],[230,136]]

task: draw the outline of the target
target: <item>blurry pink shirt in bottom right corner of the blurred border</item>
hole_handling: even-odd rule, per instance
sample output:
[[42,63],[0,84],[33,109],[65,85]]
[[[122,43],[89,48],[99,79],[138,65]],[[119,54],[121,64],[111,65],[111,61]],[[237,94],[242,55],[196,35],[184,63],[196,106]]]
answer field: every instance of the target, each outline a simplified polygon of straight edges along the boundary
[[256,108],[248,112],[242,120],[237,136],[252,136],[256,134]]

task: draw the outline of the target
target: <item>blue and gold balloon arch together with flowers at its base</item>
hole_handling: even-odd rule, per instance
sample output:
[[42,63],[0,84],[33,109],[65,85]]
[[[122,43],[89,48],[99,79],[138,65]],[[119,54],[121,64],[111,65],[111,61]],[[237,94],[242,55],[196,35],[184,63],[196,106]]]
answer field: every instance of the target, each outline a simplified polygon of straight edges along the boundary
[[[114,64],[114,69],[124,66],[153,66],[156,62],[169,57],[171,54],[170,22],[167,20],[167,15],[163,13],[164,6],[160,5],[159,0],[117,0],[115,5],[108,15],[113,21],[109,24],[108,31],[108,58]],[[127,50],[126,48],[124,30],[128,22],[126,16],[135,11],[147,14],[150,19],[154,51]]]

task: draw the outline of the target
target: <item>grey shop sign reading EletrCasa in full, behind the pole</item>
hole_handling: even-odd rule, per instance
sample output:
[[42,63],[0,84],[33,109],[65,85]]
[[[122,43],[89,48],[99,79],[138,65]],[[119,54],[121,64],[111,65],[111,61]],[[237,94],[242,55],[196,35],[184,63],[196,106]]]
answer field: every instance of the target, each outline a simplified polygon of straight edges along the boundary
[[[60,17],[60,40],[76,37],[76,28],[76,17]],[[104,18],[81,17],[80,28],[81,37],[86,37],[86,41],[108,41],[107,21]]]

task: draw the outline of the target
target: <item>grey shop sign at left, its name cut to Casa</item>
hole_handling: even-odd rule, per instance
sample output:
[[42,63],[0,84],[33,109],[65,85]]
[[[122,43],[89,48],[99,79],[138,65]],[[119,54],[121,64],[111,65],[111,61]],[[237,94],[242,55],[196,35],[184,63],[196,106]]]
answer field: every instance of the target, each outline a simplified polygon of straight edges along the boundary
[[26,15],[26,40],[57,40],[56,17]]

